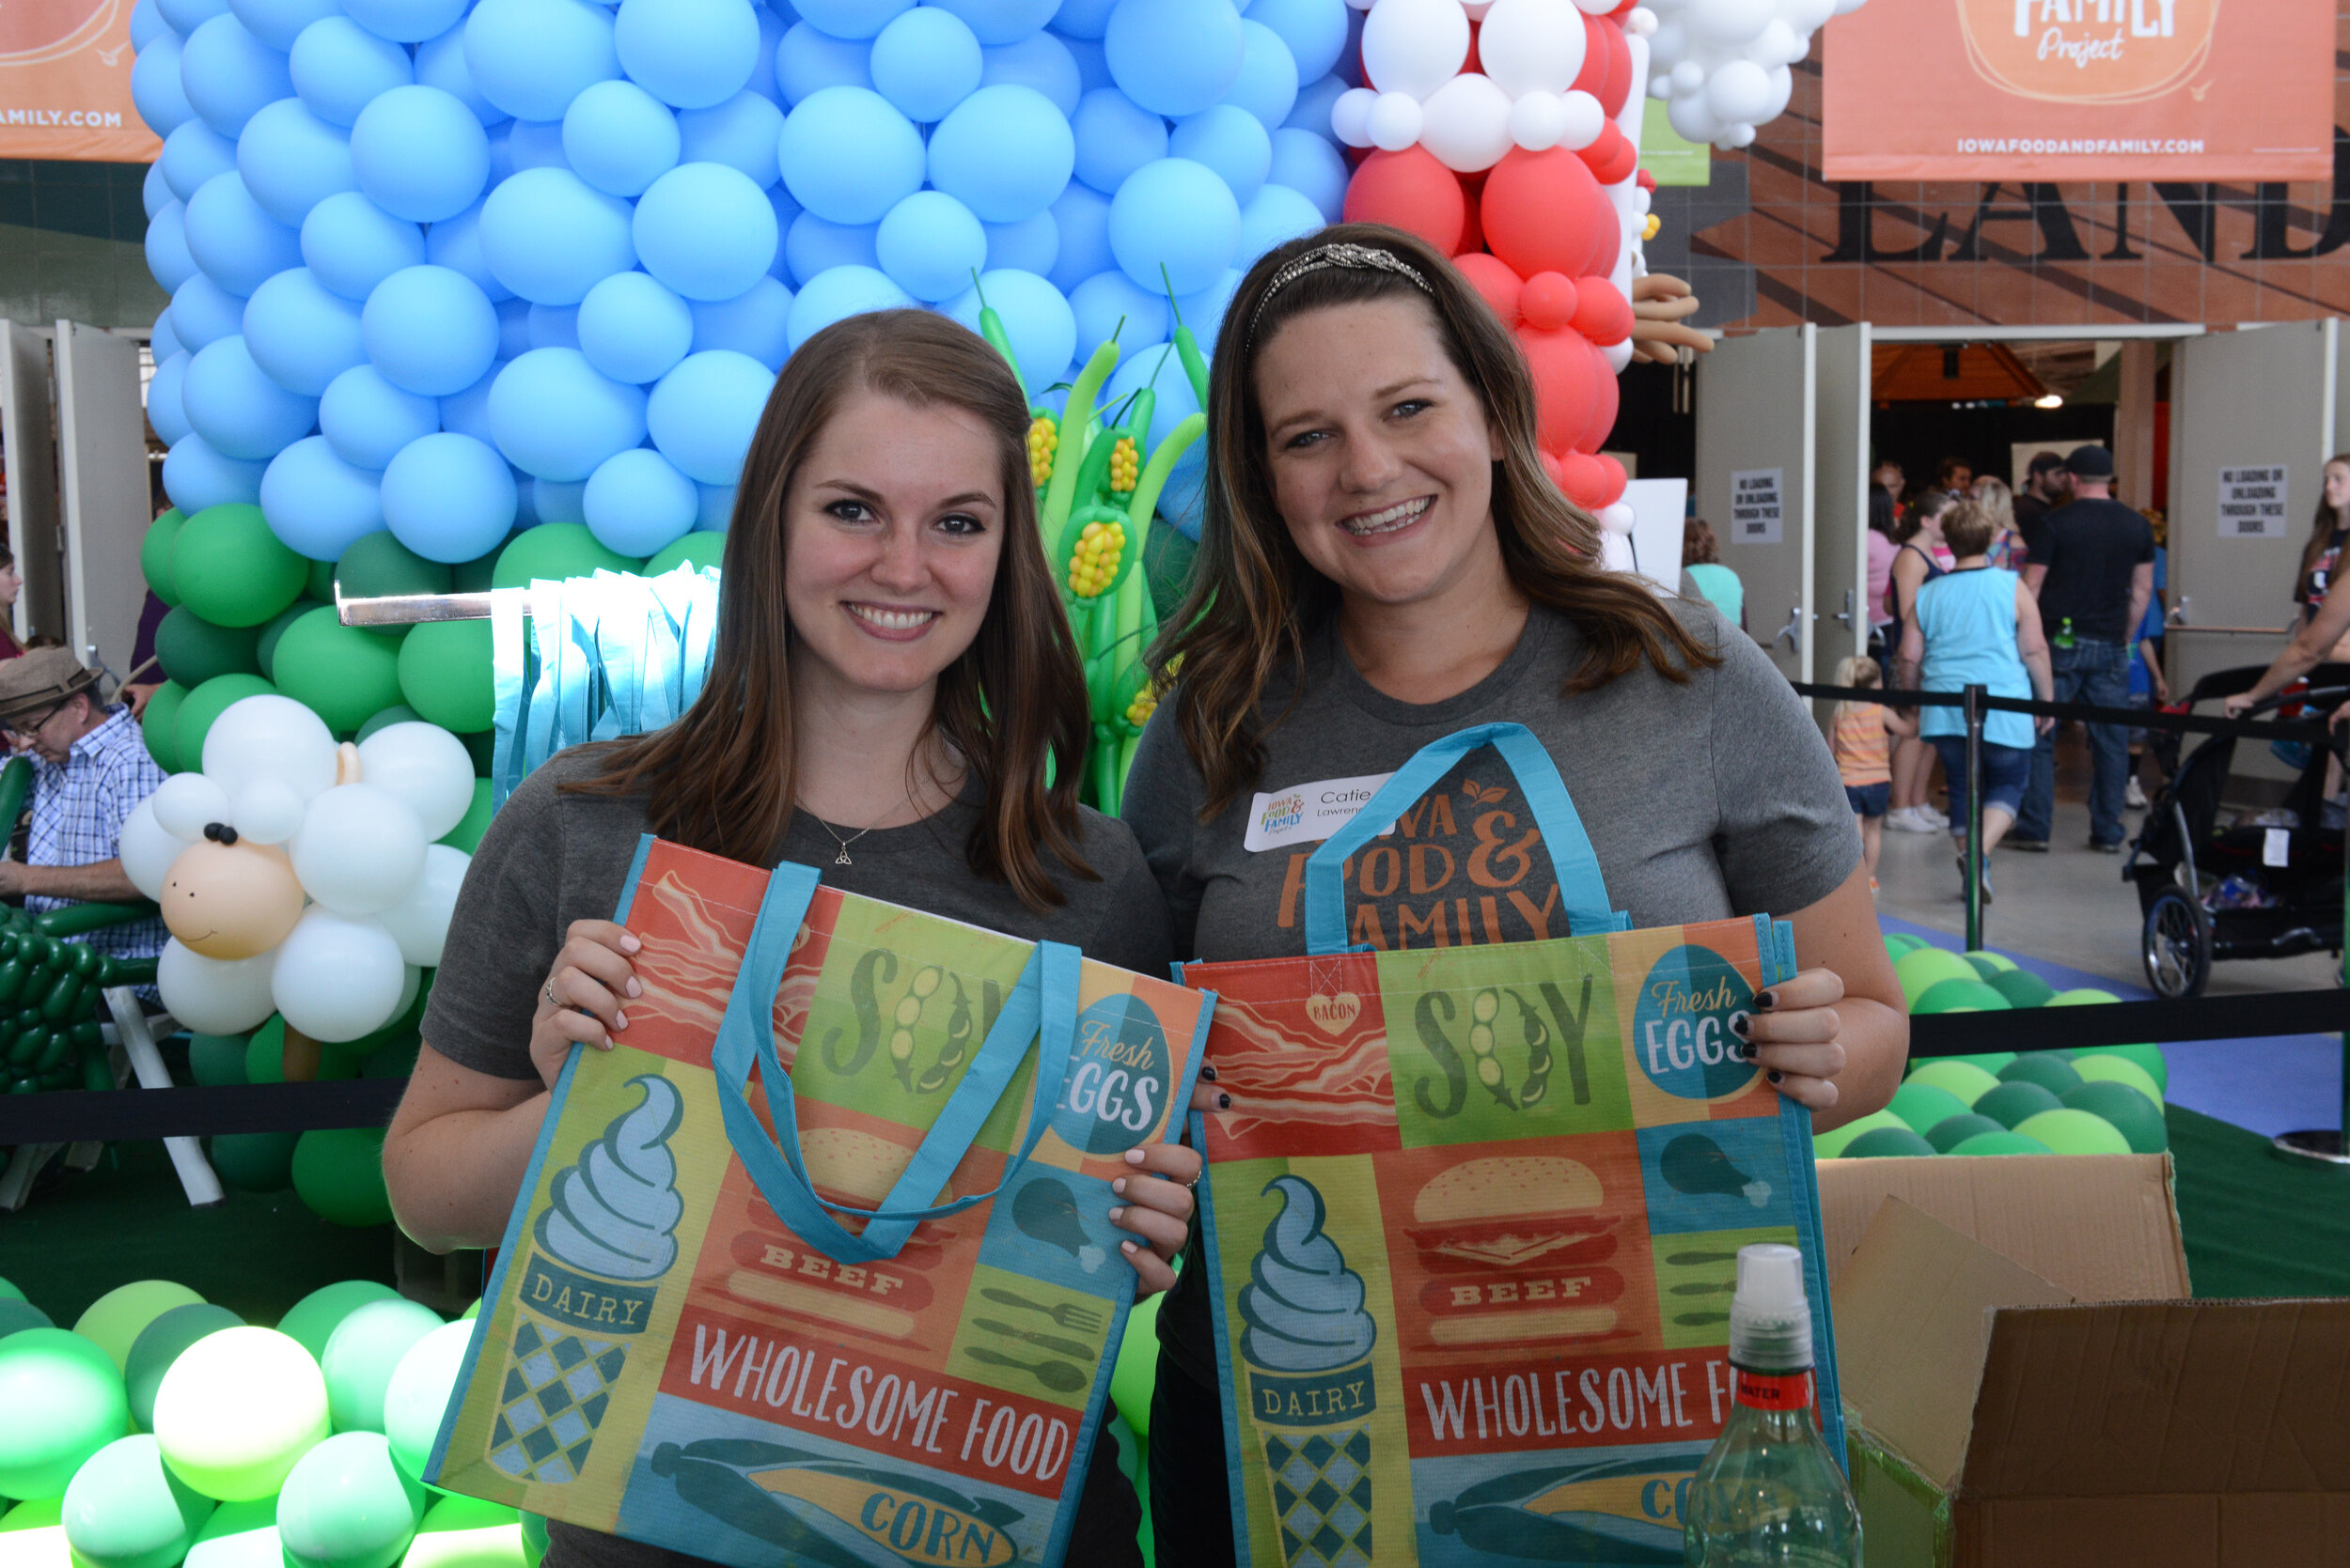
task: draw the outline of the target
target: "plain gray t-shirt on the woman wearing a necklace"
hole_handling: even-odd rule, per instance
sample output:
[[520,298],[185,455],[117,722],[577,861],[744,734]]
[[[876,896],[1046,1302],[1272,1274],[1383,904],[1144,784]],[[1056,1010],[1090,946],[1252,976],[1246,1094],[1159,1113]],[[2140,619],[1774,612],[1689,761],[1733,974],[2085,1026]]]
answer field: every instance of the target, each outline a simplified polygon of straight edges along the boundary
[[[637,838],[649,829],[644,798],[557,791],[557,784],[592,775],[592,753],[550,758],[498,807],[465,871],[423,1038],[477,1073],[538,1077],[531,1019],[555,951],[573,920],[611,920],[620,906]],[[1055,869],[1053,880],[1067,901],[1039,913],[1008,885],[971,871],[964,843],[978,815],[978,793],[966,791],[924,822],[855,838],[851,864],[837,866],[839,843],[815,817],[794,812],[783,845],[764,864],[792,859],[820,866],[825,885],[841,892],[968,920],[1025,941],[1067,941],[1088,958],[1142,974],[1168,972],[1175,948],[1166,899],[1121,822],[1079,812],[1079,852],[1100,880]],[[1097,1434],[1069,1561],[1140,1563],[1137,1521],[1140,1505],[1119,1474],[1116,1446]],[[548,1542],[550,1568],[691,1568],[700,1561],[569,1523],[550,1523]]]

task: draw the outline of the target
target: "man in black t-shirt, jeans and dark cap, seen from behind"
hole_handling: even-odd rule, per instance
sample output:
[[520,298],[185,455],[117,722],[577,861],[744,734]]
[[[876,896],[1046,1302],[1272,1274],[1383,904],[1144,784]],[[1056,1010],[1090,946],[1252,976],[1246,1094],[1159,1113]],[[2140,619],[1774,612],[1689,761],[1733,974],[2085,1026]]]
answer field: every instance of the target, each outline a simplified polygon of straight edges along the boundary
[[[2129,634],[2155,594],[2155,530],[2113,500],[2113,453],[2075,446],[2063,460],[2073,500],[2040,523],[2023,587],[2040,599],[2056,702],[2129,707]],[[2089,847],[2122,852],[2129,730],[2089,725]],[[2047,850],[2056,817],[2056,732],[2040,732],[2009,847]]]

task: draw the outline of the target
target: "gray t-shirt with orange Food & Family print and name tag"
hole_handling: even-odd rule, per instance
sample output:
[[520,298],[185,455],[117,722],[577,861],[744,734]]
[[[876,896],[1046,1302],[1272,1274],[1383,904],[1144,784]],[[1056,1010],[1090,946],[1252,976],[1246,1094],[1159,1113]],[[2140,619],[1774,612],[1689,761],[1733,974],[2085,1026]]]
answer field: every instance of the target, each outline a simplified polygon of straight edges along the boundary
[[[1499,669],[1443,702],[1398,702],[1347,657],[1335,627],[1307,648],[1304,692],[1264,737],[1264,772],[1215,819],[1175,730],[1173,704],[1142,732],[1126,822],[1175,908],[1191,958],[1283,958],[1304,948],[1304,866],[1361,805],[1377,775],[1480,723],[1523,723],[1558,763],[1607,883],[1636,927],[1788,915],[1835,892],[1861,859],[1835,758],[1802,699],[1753,638],[1699,601],[1666,601],[1723,655],[1683,685],[1640,664],[1560,695],[1584,648],[1558,613],[1535,608]],[[1267,690],[1283,714],[1290,688]],[[1351,815],[1351,812],[1347,812]],[[1250,850],[1250,836],[1264,843]],[[1478,946],[1565,937],[1558,873],[1516,777],[1490,749],[1462,756],[1391,838],[1358,850],[1347,876],[1347,937],[1375,948]],[[1196,1249],[1194,1249],[1196,1263]],[[1187,1268],[1159,1338],[1215,1383],[1206,1289]]]

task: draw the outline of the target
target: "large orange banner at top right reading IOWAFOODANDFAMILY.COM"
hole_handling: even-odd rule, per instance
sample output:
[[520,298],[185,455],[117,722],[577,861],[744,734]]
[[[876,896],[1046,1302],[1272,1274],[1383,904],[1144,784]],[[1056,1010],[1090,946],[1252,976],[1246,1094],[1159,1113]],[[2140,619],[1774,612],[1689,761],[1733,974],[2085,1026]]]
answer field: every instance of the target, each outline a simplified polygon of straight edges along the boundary
[[[1894,92],[1918,61],[1932,92]],[[1824,108],[1831,181],[2324,181],[2334,7],[1864,5],[1826,28]]]

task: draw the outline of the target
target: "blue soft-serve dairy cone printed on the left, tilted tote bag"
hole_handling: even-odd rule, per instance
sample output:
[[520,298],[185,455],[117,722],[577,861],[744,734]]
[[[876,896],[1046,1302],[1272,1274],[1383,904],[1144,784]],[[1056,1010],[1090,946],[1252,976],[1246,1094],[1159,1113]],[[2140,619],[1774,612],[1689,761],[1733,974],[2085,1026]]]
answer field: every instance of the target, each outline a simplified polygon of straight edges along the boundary
[[684,1101],[665,1077],[559,1171],[522,1258],[515,1343],[498,1390],[489,1462],[517,1481],[562,1486],[588,1465],[630,1343],[677,1263],[677,1160]]

